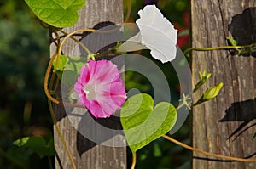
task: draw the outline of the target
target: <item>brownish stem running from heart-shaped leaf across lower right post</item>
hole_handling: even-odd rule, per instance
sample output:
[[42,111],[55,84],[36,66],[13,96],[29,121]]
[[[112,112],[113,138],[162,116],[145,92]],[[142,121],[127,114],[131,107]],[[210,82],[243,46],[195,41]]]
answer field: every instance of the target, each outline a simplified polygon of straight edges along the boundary
[[217,157],[217,158],[221,158],[221,159],[227,159],[227,160],[231,160],[231,161],[242,161],[242,162],[255,162],[256,161],[256,158],[245,159],[245,158],[238,158],[238,157],[232,157],[232,156],[227,156],[227,155],[212,154],[212,153],[209,153],[207,151],[203,151],[201,149],[195,149],[194,147],[191,147],[191,146],[189,146],[187,144],[183,144],[183,143],[181,143],[181,142],[177,141],[176,139],[171,138],[169,136],[164,135],[162,137],[166,138],[167,140],[171,141],[174,144],[182,146],[185,149],[189,149],[189,150],[195,151],[195,152],[200,153],[202,155]]

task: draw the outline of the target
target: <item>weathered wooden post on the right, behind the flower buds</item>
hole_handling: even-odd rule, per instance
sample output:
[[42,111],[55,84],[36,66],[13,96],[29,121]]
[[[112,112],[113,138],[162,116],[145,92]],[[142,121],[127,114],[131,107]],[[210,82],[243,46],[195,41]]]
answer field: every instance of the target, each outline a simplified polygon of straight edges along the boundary
[[[191,1],[192,47],[238,45],[256,42],[256,1]],[[212,73],[206,86],[224,82],[217,99],[193,108],[193,146],[211,153],[253,157],[256,143],[256,58],[254,54],[230,55],[228,50],[192,52],[193,83],[199,71]],[[206,89],[206,88],[205,88]],[[198,93],[194,101],[199,99]],[[224,161],[193,154],[199,168],[256,168],[256,162]]]

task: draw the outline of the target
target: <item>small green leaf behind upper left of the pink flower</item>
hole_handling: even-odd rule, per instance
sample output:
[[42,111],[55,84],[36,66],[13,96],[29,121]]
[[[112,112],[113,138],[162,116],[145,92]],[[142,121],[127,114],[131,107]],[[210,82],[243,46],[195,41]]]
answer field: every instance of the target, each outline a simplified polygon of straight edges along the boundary
[[53,66],[56,66],[56,74],[63,84],[67,87],[73,86],[77,77],[80,74],[80,70],[83,65],[87,63],[86,57],[68,57],[61,55],[58,59],[54,60]]

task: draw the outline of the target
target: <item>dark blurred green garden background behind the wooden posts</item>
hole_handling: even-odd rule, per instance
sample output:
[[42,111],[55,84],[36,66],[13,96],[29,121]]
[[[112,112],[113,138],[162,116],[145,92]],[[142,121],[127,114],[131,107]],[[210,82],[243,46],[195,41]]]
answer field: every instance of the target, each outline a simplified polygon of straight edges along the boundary
[[[179,32],[188,29],[189,0],[132,0],[130,21],[137,20],[137,11],[145,4],[153,3]],[[42,136],[45,140],[53,137],[44,94],[44,73],[49,61],[48,30],[20,0],[1,1],[0,19],[0,168],[49,168],[53,157],[40,158],[32,150],[13,144],[17,138],[26,136]],[[188,35],[178,38],[180,48],[188,45]],[[163,69],[175,98],[179,94],[176,75],[165,66]],[[150,93],[150,85],[144,82],[143,76],[127,73],[125,78],[127,90],[137,87]],[[189,144],[189,119],[173,138]],[[137,168],[189,168],[189,155],[188,150],[160,138],[137,152]],[[128,164],[131,165],[131,155]]]

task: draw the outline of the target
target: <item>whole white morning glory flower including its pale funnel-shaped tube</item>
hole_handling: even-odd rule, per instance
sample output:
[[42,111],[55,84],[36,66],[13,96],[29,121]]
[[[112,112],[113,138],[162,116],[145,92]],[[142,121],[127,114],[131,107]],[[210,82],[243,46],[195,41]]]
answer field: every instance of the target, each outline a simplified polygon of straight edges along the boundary
[[121,44],[119,52],[131,52],[150,49],[154,59],[162,63],[172,61],[176,56],[177,30],[167,20],[155,5],[147,5],[138,12],[140,19],[136,20],[139,32]]

